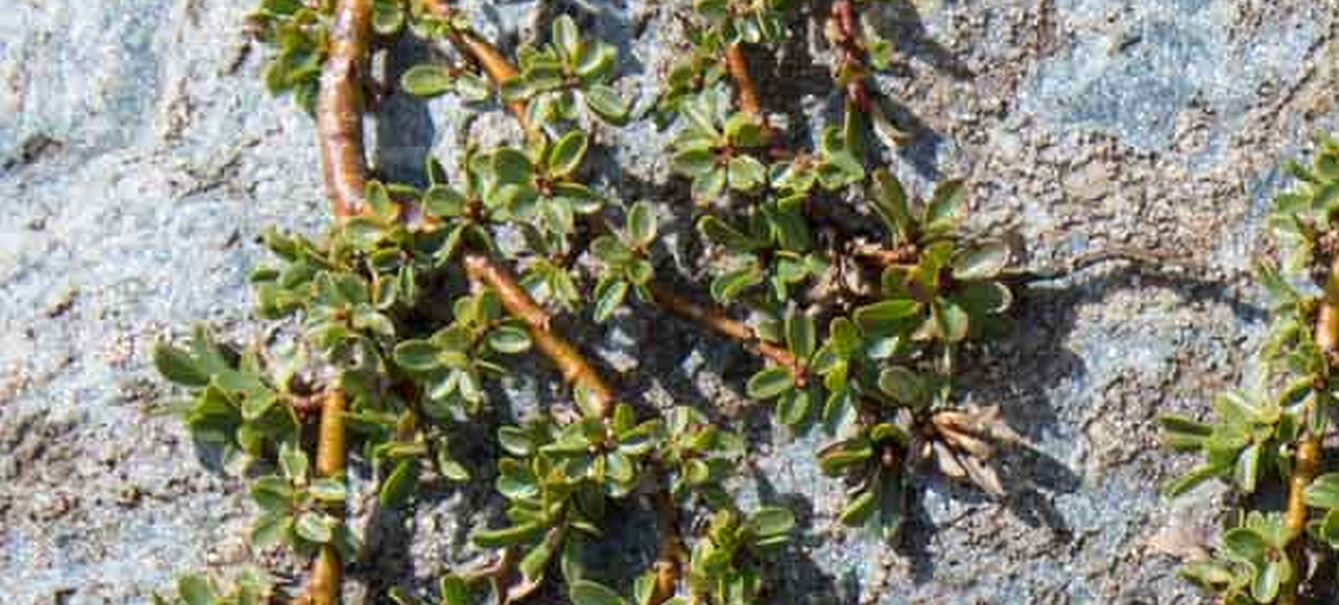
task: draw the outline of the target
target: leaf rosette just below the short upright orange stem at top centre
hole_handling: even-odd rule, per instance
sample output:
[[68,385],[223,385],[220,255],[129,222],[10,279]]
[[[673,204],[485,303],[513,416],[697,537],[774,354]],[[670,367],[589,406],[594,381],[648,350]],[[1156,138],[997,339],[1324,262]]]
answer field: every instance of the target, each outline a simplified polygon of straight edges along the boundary
[[671,143],[671,165],[692,179],[694,199],[714,202],[727,189],[753,193],[767,183],[767,166],[751,155],[767,142],[762,119],[734,111],[723,86],[686,100],[680,116],[684,123]]

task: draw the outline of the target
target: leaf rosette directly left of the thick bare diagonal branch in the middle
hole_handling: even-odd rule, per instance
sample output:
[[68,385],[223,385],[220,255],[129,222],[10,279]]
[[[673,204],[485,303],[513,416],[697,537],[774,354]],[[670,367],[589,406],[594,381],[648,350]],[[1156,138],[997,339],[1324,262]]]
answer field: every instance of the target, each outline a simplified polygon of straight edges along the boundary
[[521,320],[505,317],[493,290],[462,296],[453,305],[453,321],[427,339],[395,345],[395,365],[423,387],[427,411],[450,418],[463,410],[478,414],[483,404],[483,380],[506,375],[498,355],[530,349],[530,335]]

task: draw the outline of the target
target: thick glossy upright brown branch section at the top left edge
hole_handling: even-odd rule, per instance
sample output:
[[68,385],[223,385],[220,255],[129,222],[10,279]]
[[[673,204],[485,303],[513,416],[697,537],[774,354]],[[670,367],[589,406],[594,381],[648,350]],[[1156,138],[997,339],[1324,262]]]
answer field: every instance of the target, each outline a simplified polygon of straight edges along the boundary
[[363,155],[363,78],[372,40],[372,0],[335,4],[329,58],[321,67],[316,99],[321,171],[340,222],[367,206],[367,158]]

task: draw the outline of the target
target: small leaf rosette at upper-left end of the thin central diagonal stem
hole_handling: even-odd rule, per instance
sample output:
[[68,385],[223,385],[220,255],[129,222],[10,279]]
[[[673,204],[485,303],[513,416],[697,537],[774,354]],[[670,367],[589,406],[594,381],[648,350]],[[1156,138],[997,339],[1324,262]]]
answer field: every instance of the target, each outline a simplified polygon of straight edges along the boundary
[[643,301],[651,301],[647,284],[655,277],[651,265],[651,245],[656,240],[656,210],[649,202],[637,202],[628,209],[627,225],[621,234],[604,234],[590,242],[590,253],[603,268],[595,285],[595,320],[604,323],[623,305],[629,290]]

